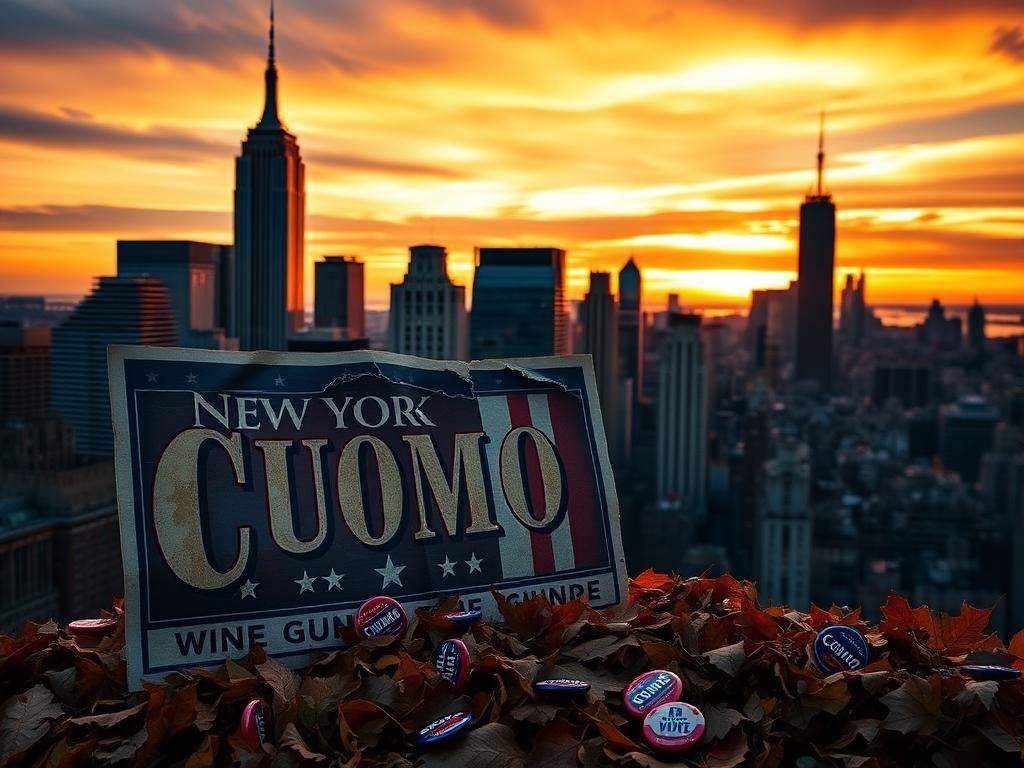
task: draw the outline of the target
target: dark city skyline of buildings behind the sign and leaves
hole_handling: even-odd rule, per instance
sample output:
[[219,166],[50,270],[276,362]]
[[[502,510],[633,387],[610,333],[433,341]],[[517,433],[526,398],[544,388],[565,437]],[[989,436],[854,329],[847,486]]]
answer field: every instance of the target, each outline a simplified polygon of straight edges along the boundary
[[374,263],[357,255],[318,254],[304,295],[305,166],[273,35],[271,16],[232,243],[120,240],[116,273],[81,300],[0,296],[0,631],[122,593],[110,344],[590,354],[631,574],[729,571],[763,604],[870,617],[896,590],[940,610],[994,605],[1005,637],[1024,627],[1024,309],[876,306],[870,269],[838,271],[824,118],[814,186],[794,189],[797,280],[742,311],[685,288],[645,303],[628,251],[571,301],[557,239],[495,247],[485,232],[471,286],[450,278],[443,244],[410,243],[388,310],[368,310]]

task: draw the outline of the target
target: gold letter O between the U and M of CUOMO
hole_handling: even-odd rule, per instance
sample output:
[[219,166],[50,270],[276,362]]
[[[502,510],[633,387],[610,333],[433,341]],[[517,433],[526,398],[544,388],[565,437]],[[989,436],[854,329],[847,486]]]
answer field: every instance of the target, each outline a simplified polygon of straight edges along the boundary
[[[359,449],[364,444],[370,445],[377,458],[384,512],[384,529],[379,537],[374,537],[367,525],[366,500],[359,483]],[[398,532],[401,524],[401,477],[398,474],[398,463],[386,442],[365,434],[345,443],[338,461],[338,502],[341,505],[341,516],[348,523],[352,536],[364,544],[371,547],[387,544]]]

